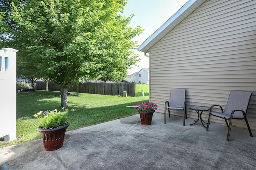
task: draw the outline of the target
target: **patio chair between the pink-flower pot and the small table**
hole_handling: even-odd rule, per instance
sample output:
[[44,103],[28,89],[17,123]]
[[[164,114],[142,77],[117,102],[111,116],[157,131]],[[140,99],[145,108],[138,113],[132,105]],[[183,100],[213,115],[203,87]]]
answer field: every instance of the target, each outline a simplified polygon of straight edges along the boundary
[[171,89],[170,93],[170,103],[169,101],[165,102],[164,106],[164,123],[166,123],[166,110],[178,110],[183,111],[183,126],[185,126],[185,118],[187,119],[187,106],[185,102],[185,93],[186,89]]

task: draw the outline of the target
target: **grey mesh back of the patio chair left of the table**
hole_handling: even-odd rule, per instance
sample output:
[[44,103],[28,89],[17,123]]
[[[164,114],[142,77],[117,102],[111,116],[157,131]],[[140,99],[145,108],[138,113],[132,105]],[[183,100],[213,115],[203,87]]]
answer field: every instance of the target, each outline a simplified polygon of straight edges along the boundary
[[185,89],[171,89],[170,94],[170,107],[184,107],[185,102]]

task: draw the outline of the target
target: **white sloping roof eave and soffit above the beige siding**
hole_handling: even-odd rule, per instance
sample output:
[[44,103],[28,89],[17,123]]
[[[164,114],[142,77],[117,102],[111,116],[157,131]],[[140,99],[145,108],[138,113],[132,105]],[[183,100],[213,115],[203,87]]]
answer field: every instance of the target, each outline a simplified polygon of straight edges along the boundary
[[145,40],[137,50],[148,52],[148,50],[189,16],[196,8],[202,5],[206,0],[189,0],[182,6],[171,18],[169,18],[160,28],[158,28],[147,40]]

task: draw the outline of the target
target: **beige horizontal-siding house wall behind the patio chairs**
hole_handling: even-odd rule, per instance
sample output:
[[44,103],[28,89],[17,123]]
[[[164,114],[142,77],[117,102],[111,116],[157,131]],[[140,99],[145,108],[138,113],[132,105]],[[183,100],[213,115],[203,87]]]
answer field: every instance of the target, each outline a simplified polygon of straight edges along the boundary
[[[255,11],[256,0],[207,0],[150,48],[150,101],[158,104],[159,113],[164,113],[170,88],[186,89],[188,108],[225,108],[231,90],[251,91],[247,118],[256,129]],[[187,111],[189,118],[197,118],[195,111]],[[217,117],[211,121],[225,124]],[[244,120],[232,125],[246,127]]]

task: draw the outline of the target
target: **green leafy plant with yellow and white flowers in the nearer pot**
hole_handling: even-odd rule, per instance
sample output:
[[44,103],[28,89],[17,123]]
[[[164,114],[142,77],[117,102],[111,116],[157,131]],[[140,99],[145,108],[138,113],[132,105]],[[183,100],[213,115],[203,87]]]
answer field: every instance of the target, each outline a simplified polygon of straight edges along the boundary
[[34,114],[34,117],[37,117],[39,121],[40,128],[42,129],[52,129],[63,127],[68,119],[67,117],[68,109],[64,110],[62,107],[62,112],[54,109],[52,111],[40,111]]

